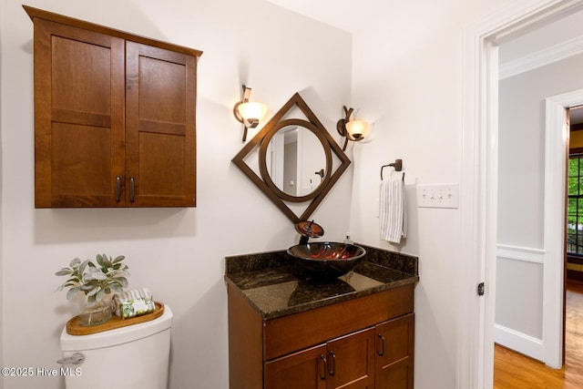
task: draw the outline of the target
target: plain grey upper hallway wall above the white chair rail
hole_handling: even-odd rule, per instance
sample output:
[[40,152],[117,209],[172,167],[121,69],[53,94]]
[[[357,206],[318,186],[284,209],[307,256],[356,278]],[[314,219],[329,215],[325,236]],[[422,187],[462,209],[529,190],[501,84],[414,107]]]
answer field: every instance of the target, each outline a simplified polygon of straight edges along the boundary
[[499,83],[498,244],[544,249],[545,98],[583,86],[583,56]]

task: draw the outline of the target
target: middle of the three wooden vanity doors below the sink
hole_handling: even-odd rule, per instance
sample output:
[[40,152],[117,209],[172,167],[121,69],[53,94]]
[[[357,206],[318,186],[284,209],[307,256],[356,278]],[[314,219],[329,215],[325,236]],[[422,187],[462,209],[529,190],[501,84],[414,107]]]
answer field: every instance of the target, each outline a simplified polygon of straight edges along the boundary
[[328,389],[373,389],[374,328],[328,343]]

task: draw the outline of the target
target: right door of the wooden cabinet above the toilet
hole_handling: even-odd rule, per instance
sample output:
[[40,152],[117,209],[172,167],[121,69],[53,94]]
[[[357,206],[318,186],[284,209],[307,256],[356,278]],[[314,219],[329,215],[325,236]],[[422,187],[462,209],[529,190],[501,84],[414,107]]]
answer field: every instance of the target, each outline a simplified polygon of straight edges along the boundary
[[128,42],[128,206],[194,206],[196,57]]

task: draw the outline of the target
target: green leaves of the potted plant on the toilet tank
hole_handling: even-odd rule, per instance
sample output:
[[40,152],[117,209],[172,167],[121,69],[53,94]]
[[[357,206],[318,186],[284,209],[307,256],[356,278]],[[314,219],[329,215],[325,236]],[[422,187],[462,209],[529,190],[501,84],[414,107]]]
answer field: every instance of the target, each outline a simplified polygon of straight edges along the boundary
[[69,288],[66,292],[67,300],[75,298],[78,292],[84,292],[87,305],[94,306],[106,294],[121,293],[128,286],[128,265],[123,263],[125,258],[119,255],[112,260],[106,254],[97,254],[97,264],[90,260],[81,262],[76,258],[69,263],[69,267],[56,271],[58,276],[68,276],[58,290]]

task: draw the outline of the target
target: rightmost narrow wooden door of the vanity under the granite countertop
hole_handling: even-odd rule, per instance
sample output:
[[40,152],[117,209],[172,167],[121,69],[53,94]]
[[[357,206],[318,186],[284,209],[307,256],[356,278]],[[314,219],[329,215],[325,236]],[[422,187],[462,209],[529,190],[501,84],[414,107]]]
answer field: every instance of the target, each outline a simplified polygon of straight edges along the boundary
[[376,389],[413,389],[414,314],[376,326]]

